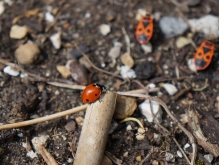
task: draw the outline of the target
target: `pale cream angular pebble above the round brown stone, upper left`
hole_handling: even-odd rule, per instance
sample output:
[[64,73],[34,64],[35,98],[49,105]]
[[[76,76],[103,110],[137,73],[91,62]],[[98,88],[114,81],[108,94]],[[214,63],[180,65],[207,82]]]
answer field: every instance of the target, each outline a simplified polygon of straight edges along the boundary
[[10,37],[14,39],[22,39],[26,37],[28,28],[26,26],[13,25],[10,31]]

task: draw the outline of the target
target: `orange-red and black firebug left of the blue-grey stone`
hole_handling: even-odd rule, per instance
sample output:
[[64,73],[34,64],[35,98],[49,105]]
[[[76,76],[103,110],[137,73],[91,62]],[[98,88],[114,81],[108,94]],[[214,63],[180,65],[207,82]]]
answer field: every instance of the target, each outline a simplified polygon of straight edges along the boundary
[[153,35],[153,29],[154,24],[152,17],[150,15],[142,17],[135,30],[136,40],[140,44],[148,43]]

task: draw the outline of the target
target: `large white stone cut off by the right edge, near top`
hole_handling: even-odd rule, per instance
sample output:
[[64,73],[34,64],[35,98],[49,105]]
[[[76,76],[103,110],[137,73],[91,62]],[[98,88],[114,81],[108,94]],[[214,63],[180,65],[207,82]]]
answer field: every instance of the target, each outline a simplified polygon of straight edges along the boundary
[[205,15],[198,19],[189,19],[193,32],[203,32],[211,39],[219,37],[219,17],[214,15]]

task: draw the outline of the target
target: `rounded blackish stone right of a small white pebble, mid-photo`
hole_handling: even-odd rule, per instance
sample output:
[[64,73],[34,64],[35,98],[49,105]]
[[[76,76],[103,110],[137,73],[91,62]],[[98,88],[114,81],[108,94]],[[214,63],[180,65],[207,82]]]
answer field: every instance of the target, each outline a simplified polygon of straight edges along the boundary
[[144,61],[137,64],[134,68],[136,79],[148,79],[155,74],[156,68],[154,63],[150,61]]

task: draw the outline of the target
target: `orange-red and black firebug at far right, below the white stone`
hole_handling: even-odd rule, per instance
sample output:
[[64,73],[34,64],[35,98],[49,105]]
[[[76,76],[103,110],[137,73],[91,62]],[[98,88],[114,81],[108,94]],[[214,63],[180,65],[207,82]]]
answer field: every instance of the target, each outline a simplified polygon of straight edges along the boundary
[[197,70],[204,70],[211,63],[214,55],[214,43],[203,41],[194,56],[194,62]]

